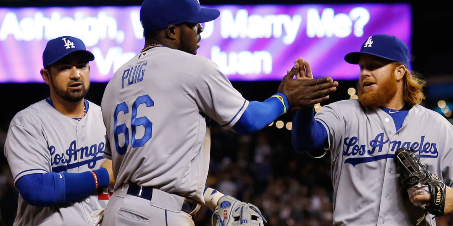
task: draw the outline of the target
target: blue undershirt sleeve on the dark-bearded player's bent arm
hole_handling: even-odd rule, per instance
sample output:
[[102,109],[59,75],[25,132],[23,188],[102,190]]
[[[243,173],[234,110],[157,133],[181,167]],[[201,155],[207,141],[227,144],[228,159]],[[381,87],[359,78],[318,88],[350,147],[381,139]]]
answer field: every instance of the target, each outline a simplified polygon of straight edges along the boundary
[[[94,170],[98,177],[98,188],[109,185],[110,178],[105,168]],[[74,202],[95,191],[91,171],[73,173],[28,174],[19,178],[16,188],[25,202],[36,207]]]

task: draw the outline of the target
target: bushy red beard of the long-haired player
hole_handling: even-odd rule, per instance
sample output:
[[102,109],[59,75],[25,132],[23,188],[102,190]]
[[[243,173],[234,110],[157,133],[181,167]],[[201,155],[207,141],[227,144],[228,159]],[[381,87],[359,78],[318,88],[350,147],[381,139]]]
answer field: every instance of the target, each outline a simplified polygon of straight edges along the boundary
[[357,85],[359,102],[367,108],[383,107],[390,102],[395,96],[398,86],[395,78],[390,76],[389,79],[382,84],[378,84],[376,91],[364,93],[361,82]]

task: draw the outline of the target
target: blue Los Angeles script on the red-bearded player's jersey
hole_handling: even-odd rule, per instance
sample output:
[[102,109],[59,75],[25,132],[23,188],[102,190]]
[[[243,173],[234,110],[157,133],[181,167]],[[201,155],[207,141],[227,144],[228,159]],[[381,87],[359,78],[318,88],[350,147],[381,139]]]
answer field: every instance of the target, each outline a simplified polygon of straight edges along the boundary
[[421,136],[420,142],[403,142],[396,140],[389,141],[388,138],[386,138],[386,140],[384,141],[384,137],[384,133],[379,133],[373,140],[369,141],[368,147],[370,149],[367,149],[367,146],[365,144],[357,144],[357,137],[346,137],[343,142],[343,144],[346,146],[346,148],[343,149],[343,155],[373,155],[376,150],[378,153],[380,153],[386,143],[389,143],[388,145],[390,145],[389,153],[394,152],[401,147],[412,147],[414,148],[415,153],[419,152],[420,154],[430,154],[424,155],[423,157],[436,158],[439,155],[436,143],[426,142],[425,136]]

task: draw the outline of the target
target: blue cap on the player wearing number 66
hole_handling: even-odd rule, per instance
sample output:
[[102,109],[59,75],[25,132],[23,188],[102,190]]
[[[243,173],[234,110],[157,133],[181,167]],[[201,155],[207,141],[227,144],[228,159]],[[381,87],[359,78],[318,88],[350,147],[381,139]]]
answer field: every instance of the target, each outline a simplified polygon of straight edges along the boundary
[[159,30],[172,24],[204,23],[219,17],[217,9],[202,8],[198,0],[145,0],[140,22],[145,30]]

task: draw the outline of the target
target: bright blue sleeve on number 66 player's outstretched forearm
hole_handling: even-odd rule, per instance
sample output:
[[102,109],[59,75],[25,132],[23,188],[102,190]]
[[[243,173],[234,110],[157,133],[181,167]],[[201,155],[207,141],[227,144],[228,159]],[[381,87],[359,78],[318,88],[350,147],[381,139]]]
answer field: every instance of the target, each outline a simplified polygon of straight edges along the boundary
[[250,101],[245,112],[234,125],[234,130],[240,134],[258,131],[286,113],[288,107],[288,99],[282,93],[277,93],[263,102]]

